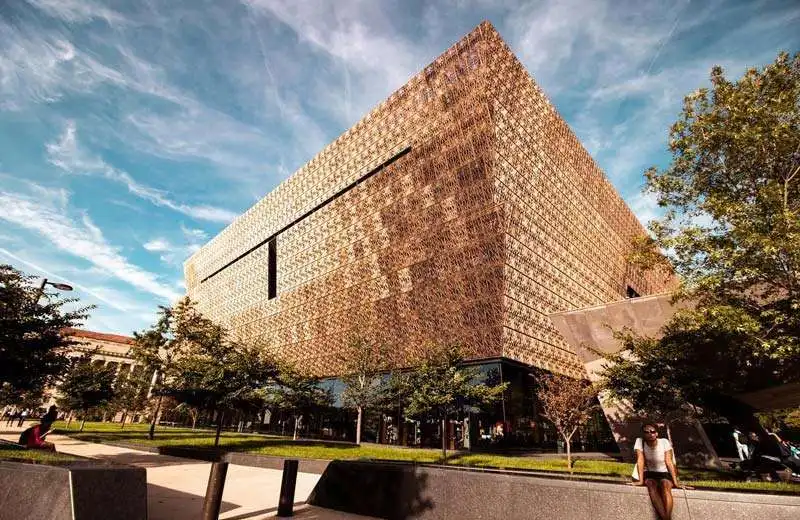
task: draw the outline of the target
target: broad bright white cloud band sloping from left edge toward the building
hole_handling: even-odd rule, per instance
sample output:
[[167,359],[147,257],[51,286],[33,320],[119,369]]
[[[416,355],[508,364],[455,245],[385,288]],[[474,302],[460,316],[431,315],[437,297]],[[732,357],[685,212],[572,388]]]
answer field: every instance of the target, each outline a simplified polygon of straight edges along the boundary
[[34,232],[50,243],[75,257],[81,258],[109,275],[131,286],[173,301],[180,297],[172,287],[162,283],[158,276],[129,262],[104,238],[88,215],[76,220],[67,208],[54,201],[62,193],[49,198],[0,191],[0,219]]

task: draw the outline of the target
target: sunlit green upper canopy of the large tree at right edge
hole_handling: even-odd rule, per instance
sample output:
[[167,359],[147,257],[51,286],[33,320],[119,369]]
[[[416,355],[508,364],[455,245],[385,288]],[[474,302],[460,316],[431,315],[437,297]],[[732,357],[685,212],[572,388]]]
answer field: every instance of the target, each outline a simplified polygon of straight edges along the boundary
[[[800,354],[800,54],[686,97],[672,163],[646,173],[651,226],[699,313],[717,307],[759,355]],[[744,339],[744,338],[743,338]],[[789,368],[789,366],[787,366]]]

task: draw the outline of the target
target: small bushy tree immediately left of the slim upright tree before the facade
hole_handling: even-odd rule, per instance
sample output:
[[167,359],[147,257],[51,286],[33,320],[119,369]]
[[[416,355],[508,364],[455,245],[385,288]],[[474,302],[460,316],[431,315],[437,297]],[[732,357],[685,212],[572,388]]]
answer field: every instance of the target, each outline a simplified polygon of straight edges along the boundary
[[333,404],[333,396],[329,391],[320,388],[317,379],[303,374],[289,364],[280,366],[277,380],[265,388],[265,399],[268,407],[283,410],[292,416],[293,440],[297,440],[303,417]]

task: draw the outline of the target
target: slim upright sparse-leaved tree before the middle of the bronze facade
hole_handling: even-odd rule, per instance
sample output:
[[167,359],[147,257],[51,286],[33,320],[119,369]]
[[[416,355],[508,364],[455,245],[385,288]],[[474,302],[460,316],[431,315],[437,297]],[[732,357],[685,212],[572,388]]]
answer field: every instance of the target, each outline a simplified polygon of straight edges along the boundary
[[364,410],[382,402],[387,390],[384,374],[392,366],[389,349],[383,343],[354,335],[341,355],[341,362],[345,374],[342,400],[345,406],[355,408],[358,413],[356,444],[361,444]]

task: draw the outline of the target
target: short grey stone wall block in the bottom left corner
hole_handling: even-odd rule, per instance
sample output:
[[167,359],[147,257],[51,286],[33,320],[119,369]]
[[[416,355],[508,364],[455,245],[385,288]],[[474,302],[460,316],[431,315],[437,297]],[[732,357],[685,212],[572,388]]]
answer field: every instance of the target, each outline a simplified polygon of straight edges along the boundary
[[0,520],[147,519],[144,468],[0,462]]

